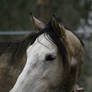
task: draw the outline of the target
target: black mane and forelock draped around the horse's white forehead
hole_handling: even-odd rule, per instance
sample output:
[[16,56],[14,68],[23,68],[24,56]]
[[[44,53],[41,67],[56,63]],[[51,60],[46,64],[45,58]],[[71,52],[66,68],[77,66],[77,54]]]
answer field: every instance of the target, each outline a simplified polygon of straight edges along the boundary
[[[11,42],[0,42],[0,48],[2,53],[11,53],[11,59],[9,60],[10,64],[15,64],[19,59],[21,59],[24,55],[26,55],[26,49],[29,45],[33,44],[34,41],[38,36],[41,34],[46,33],[48,34],[54,44],[58,47],[58,51],[60,52],[62,58],[63,58],[63,63],[67,63],[68,58],[67,58],[67,49],[66,46],[64,45],[64,42],[60,40],[60,38],[56,35],[56,33],[53,32],[51,23],[49,22],[46,27],[37,32],[30,33],[29,35],[25,36],[23,39],[19,41],[11,41]],[[76,35],[77,36],[77,35]],[[77,38],[80,40],[80,38],[77,36]],[[83,42],[80,40],[81,44],[83,45]],[[4,48],[2,49],[2,47]]]

